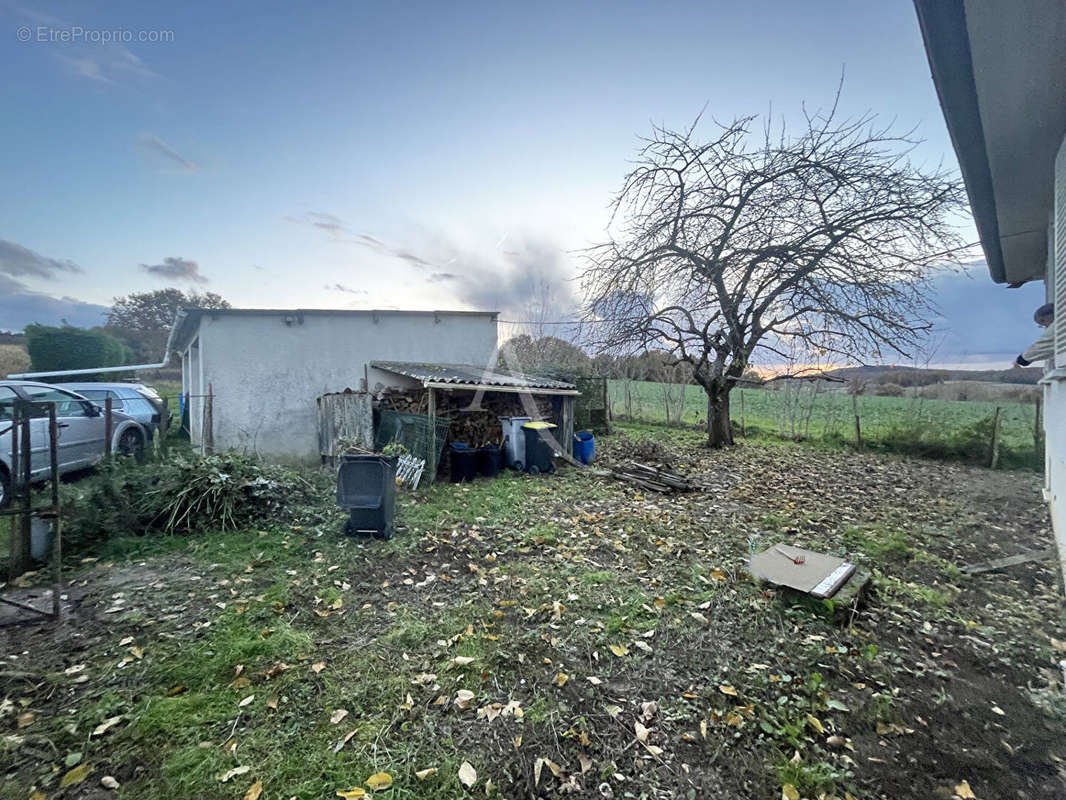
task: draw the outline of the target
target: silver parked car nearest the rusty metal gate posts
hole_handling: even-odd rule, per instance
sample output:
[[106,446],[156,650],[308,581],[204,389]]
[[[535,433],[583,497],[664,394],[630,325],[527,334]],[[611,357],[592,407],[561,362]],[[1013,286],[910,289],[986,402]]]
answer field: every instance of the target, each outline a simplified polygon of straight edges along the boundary
[[[16,399],[55,403],[59,425],[60,475],[95,466],[103,458],[107,420],[103,411],[92,400],[74,391],[33,381],[0,381],[0,507],[11,499],[11,480],[15,465],[11,463],[12,416]],[[141,423],[123,412],[111,415],[111,450],[140,457],[148,434]],[[48,417],[30,420],[30,480],[48,478],[51,468]]]

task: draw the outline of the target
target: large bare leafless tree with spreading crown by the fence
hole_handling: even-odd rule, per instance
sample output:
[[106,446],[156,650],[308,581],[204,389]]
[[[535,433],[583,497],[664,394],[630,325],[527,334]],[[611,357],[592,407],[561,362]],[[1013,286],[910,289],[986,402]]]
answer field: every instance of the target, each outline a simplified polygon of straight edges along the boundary
[[962,183],[914,164],[908,135],[836,106],[795,135],[753,135],[755,119],[710,141],[698,119],[656,127],[582,275],[594,346],[692,366],[711,447],[732,444],[729,393],[757,349],[865,363],[920,346],[928,277],[962,244]]

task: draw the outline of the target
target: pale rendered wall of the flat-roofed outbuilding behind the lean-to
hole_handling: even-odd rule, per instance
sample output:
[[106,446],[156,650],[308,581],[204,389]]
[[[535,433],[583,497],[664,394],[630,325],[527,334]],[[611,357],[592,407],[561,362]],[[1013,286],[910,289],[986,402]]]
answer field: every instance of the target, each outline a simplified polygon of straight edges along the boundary
[[[316,398],[359,389],[368,362],[495,362],[497,331],[490,316],[367,311],[291,315],[289,320],[284,314],[201,319],[184,390],[213,390],[215,449],[317,460]],[[375,371],[371,388],[381,379]],[[190,385],[197,383],[200,393]],[[191,410],[203,414],[198,404]],[[199,433],[194,425],[195,445]]]

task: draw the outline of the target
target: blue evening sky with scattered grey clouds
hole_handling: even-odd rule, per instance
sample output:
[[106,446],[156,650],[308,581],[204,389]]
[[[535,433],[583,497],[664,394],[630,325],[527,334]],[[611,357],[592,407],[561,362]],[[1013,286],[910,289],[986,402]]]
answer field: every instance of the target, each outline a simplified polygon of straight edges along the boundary
[[[521,319],[547,282],[563,315],[653,123],[792,119],[841,75],[844,114],[954,165],[903,0],[0,0],[0,330],[167,286]],[[938,279],[924,361],[1038,335],[1041,287],[969,273]]]

